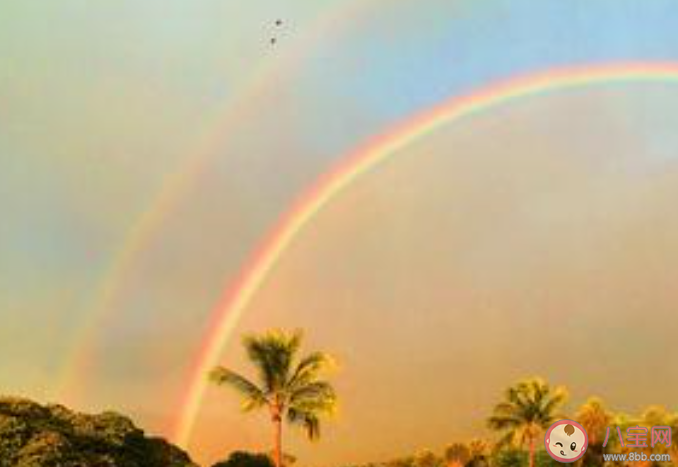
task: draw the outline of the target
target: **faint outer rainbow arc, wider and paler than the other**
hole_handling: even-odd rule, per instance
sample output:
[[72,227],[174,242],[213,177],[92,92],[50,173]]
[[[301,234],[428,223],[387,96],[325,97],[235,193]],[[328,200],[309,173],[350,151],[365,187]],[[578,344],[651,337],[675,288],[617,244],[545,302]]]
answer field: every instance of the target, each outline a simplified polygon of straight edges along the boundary
[[[120,248],[103,272],[94,292],[92,311],[85,323],[81,324],[77,335],[71,339],[71,348],[63,359],[65,367],[53,389],[58,399],[77,399],[82,374],[86,374],[92,364],[92,349],[99,332],[106,327],[107,320],[114,316],[116,302],[121,298],[139,255],[149,247],[164,221],[194,186],[210,161],[217,158],[222,153],[220,149],[229,144],[230,136],[235,134],[242,122],[248,121],[247,116],[250,113],[268,105],[267,93],[275,90],[278,78],[290,76],[316,50],[318,44],[323,43],[324,38],[338,34],[350,25],[351,20],[370,9],[376,9],[381,2],[382,0],[338,2],[335,8],[323,11],[303,34],[291,38],[286,46],[277,47],[275,56],[262,60],[248,76],[249,84],[216,111],[205,134],[201,135],[196,144],[197,148],[178,163],[176,170],[164,177],[158,192],[148,200],[147,207],[131,224]],[[268,47],[267,41],[262,44]]]

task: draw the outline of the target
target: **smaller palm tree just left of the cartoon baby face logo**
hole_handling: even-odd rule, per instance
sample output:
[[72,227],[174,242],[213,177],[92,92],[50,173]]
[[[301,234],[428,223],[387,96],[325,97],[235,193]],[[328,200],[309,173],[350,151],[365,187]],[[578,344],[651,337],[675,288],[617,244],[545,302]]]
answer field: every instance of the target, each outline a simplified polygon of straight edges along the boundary
[[527,444],[530,467],[534,467],[535,441],[555,421],[556,411],[566,400],[561,386],[551,388],[539,378],[521,381],[506,390],[505,400],[495,406],[488,425],[504,434],[502,444]]

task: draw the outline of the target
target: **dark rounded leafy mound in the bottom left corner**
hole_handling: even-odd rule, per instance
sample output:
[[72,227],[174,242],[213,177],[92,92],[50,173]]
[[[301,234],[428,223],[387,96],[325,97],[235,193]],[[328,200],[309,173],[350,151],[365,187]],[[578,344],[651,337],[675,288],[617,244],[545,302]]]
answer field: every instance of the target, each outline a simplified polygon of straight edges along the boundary
[[197,467],[188,454],[145,436],[113,412],[0,397],[0,467]]

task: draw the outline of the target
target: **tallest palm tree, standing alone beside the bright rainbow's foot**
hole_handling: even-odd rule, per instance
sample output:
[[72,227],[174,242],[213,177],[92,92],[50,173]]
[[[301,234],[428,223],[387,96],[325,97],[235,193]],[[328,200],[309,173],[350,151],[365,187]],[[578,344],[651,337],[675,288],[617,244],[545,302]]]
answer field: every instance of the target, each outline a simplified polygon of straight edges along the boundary
[[247,357],[256,367],[258,381],[217,366],[209,375],[217,385],[227,385],[242,396],[242,408],[249,412],[267,409],[274,427],[273,461],[283,466],[282,421],[305,429],[308,438],[320,436],[320,417],[334,412],[337,396],[321,376],[332,360],[323,352],[301,357],[302,334],[270,331],[243,339]]

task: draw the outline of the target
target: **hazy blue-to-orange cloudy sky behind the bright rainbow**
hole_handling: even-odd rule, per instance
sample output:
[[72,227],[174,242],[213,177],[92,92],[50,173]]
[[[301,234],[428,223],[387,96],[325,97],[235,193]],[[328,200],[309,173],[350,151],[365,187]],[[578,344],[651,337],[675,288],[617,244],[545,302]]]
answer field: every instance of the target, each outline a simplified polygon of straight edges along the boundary
[[[0,4],[0,392],[171,436],[220,297],[318,177],[443,100],[619,62],[678,63],[678,4]],[[597,83],[400,148],[294,239],[223,362],[274,327],[337,355],[337,419],[289,435],[309,466],[483,434],[532,374],[675,407],[676,109],[675,82]],[[268,445],[237,406],[208,390],[200,462]]]

